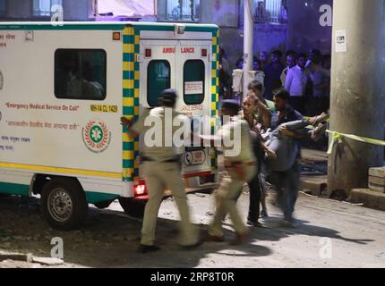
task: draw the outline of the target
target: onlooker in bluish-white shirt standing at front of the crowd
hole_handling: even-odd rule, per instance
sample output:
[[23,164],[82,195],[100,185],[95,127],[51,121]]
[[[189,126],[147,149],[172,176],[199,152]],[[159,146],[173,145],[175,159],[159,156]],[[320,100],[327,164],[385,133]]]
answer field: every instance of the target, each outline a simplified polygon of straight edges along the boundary
[[304,68],[305,64],[306,55],[299,54],[295,67],[287,71],[287,79],[285,82],[285,89],[290,93],[290,105],[301,114],[304,114],[304,90],[307,82],[307,72]]

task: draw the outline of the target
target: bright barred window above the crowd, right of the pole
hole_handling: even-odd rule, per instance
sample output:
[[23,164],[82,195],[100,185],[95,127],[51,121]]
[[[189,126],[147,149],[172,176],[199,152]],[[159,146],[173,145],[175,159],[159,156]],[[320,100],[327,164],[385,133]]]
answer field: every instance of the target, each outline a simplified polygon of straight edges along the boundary
[[287,0],[253,0],[255,21],[258,23],[287,22]]

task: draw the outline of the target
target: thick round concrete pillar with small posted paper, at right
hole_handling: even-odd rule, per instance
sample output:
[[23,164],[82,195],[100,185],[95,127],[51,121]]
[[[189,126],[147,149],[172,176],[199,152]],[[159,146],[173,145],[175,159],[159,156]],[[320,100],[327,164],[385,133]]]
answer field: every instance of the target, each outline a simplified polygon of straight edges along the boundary
[[[334,1],[330,130],[384,139],[383,19],[383,0]],[[338,53],[341,30],[347,51]],[[329,195],[367,188],[368,169],[382,164],[383,147],[344,139],[329,156]]]

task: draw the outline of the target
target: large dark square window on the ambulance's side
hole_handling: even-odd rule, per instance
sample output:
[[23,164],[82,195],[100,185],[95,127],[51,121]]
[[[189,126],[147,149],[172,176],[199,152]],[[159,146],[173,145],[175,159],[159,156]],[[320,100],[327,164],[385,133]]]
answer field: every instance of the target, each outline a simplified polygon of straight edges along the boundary
[[107,54],[101,49],[57,49],[55,96],[63,99],[104,100]]

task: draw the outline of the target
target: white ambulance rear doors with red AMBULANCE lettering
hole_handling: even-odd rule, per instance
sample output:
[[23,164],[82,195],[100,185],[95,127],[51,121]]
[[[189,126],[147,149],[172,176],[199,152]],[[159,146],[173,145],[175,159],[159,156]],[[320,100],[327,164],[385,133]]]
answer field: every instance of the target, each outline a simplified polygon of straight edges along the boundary
[[[194,118],[196,126],[203,126],[202,118],[210,124],[210,46],[210,40],[142,39],[141,106],[158,106],[161,91],[175,88],[179,95],[176,110]],[[210,175],[210,147],[186,147],[183,162],[184,177]]]

